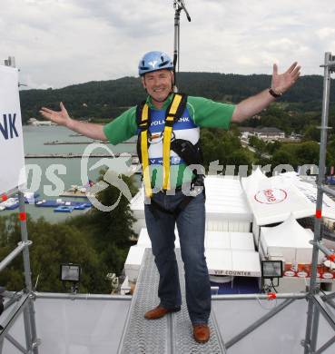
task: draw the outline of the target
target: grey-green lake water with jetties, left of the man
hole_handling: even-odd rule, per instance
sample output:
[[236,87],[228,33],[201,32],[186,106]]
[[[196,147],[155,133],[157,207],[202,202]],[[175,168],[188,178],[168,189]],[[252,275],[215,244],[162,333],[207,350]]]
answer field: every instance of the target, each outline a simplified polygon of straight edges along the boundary
[[[92,139],[84,136],[73,136],[74,132],[68,130],[63,126],[32,126],[26,125],[23,127],[24,131],[24,144],[25,154],[52,154],[52,153],[83,153],[84,149],[88,146],[88,143],[94,143]],[[54,144],[45,145],[44,143],[51,142],[87,142],[85,144]],[[134,142],[134,140],[133,140]],[[98,143],[98,142],[96,142]],[[103,144],[103,148],[94,149],[94,153],[110,154],[114,152],[130,152],[136,153],[135,143],[121,143],[113,146],[112,144]],[[111,160],[111,159],[109,159]],[[106,166],[101,165],[98,168],[90,169],[96,162],[102,162],[103,158],[90,158],[87,163],[87,173],[85,173],[85,181],[81,179],[81,159],[80,158],[26,158],[25,165],[29,167],[29,173],[27,175],[28,188],[37,189],[36,192],[40,194],[40,199],[57,199],[58,191],[57,185],[65,191],[68,190],[71,185],[83,185],[88,179],[96,181],[99,177],[99,171]],[[124,166],[125,160],[118,158],[113,160],[113,170],[120,172]],[[54,171],[54,172],[53,172]],[[137,179],[138,181],[139,179]],[[32,184],[33,182],[33,184]],[[35,187],[37,186],[37,187]],[[59,188],[58,188],[59,189]],[[50,195],[50,192],[55,195]],[[49,195],[47,195],[49,194]],[[78,198],[65,198],[63,200],[84,200]],[[73,211],[70,213],[56,213],[52,208],[36,208],[34,205],[26,205],[26,211],[36,219],[40,216],[44,216],[47,221],[58,222],[64,219],[79,215],[84,211]],[[1,211],[0,215],[8,215],[16,211]]]

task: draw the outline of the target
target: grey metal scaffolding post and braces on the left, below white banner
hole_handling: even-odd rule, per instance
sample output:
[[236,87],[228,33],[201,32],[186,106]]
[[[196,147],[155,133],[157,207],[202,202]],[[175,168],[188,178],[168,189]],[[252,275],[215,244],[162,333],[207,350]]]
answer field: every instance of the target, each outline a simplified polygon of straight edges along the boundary
[[[5,66],[15,68],[15,58],[9,57],[5,60]],[[5,322],[2,324],[3,329],[0,331],[0,354],[3,352],[4,341],[7,339],[12,343],[16,349],[19,349],[24,354],[38,354],[38,345],[40,340],[37,339],[36,323],[34,318],[34,292],[32,286],[32,277],[30,270],[30,257],[29,246],[33,243],[28,240],[28,231],[26,227],[26,213],[25,213],[25,195],[19,190],[18,187],[7,191],[8,195],[18,193],[19,197],[19,211],[20,211],[20,227],[21,227],[21,241],[18,243],[14,251],[11,251],[3,261],[0,262],[0,271],[15,260],[22,252],[24,259],[24,272],[25,272],[25,290],[21,293],[12,293],[9,296],[11,299],[5,303],[5,310],[8,309],[13,303],[16,302],[14,308],[9,311]],[[9,293],[10,295],[11,293]],[[15,320],[23,314],[25,325],[25,347],[23,347],[8,331],[12,328]]]

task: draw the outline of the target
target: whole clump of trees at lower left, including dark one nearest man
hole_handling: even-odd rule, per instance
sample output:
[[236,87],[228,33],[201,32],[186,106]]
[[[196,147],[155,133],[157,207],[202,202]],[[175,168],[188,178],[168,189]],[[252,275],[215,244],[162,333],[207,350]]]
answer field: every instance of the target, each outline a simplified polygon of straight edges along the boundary
[[[124,178],[131,192],[136,192],[133,180]],[[118,190],[110,186],[99,193],[104,205],[112,205]],[[78,263],[82,266],[81,292],[108,292],[105,280],[108,272],[118,275],[123,270],[129,247],[132,245],[133,214],[129,202],[121,198],[110,212],[96,209],[69,221],[51,224],[43,218],[33,221],[28,217],[27,229],[33,283],[38,278],[37,290],[63,291],[59,280],[61,263]],[[13,251],[21,240],[20,224],[16,215],[0,218],[0,259]],[[22,257],[18,257],[0,273],[0,284],[8,290],[22,290],[25,280]]]

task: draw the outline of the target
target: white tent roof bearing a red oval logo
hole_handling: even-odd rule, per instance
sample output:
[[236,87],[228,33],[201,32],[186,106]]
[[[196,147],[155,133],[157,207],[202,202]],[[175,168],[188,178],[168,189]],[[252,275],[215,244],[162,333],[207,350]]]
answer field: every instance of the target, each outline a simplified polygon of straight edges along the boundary
[[258,225],[286,220],[292,213],[304,218],[315,213],[315,206],[291,183],[280,176],[267,178],[259,170],[242,178],[242,187]]

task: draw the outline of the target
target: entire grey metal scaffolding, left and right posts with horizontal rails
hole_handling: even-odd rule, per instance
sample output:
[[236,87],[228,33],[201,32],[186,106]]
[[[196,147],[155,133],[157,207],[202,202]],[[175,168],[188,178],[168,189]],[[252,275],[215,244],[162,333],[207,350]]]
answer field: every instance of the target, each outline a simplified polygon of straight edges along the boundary
[[[335,254],[328,250],[322,244],[322,234],[321,234],[321,222],[322,222],[322,198],[323,193],[327,192],[335,196],[335,191],[331,190],[329,187],[325,186],[323,183],[325,181],[325,163],[326,163],[326,152],[327,152],[327,132],[330,129],[328,126],[329,119],[329,105],[330,105],[330,74],[335,70],[335,56],[332,56],[330,52],[325,53],[324,64],[320,65],[324,68],[324,82],[323,82],[323,99],[322,99],[322,117],[320,126],[320,161],[319,161],[319,175],[317,180],[317,204],[315,213],[315,223],[314,223],[314,239],[310,241],[313,245],[312,251],[312,261],[311,261],[311,274],[310,274],[310,289],[308,292],[304,293],[279,293],[279,294],[244,294],[244,295],[213,295],[212,300],[271,300],[271,299],[282,299],[283,301],[271,309],[268,313],[263,315],[260,319],[254,321],[246,329],[241,330],[240,333],[236,334],[232,339],[227,341],[224,345],[224,350],[231,348],[234,344],[239,342],[241,339],[245,338],[251,334],[255,329],[259,328],[267,320],[270,320],[276,314],[280,313],[287,306],[295,300],[305,299],[308,301],[308,314],[306,323],[306,334],[305,338],[301,340],[301,345],[304,349],[304,354],[320,354],[324,350],[330,348],[330,346],[335,343],[335,335],[330,338],[326,343],[322,344],[319,349],[317,349],[318,344],[318,331],[320,325],[320,314],[329,323],[330,327],[335,331],[335,292],[329,294],[323,294],[320,292],[320,283],[317,280],[317,266],[318,266],[318,253],[322,251],[330,261],[335,261]],[[25,201],[24,194],[19,192],[20,198],[20,212],[25,213]],[[17,305],[13,309],[7,321],[5,323],[5,328],[0,332],[0,354],[2,353],[2,345],[4,339],[10,341],[17,349],[23,353],[34,353],[38,354],[37,346],[39,344],[39,339],[36,337],[35,321],[34,321],[34,302],[36,298],[47,298],[47,299],[68,299],[72,300],[130,300],[130,297],[124,296],[106,296],[106,295],[90,295],[90,294],[56,294],[56,293],[38,293],[32,290],[31,282],[31,271],[30,271],[30,260],[28,247],[31,244],[27,238],[26,222],[21,222],[21,233],[22,242],[19,243],[18,247],[13,251],[4,261],[0,262],[0,270],[5,268],[5,266],[12,261],[17,254],[23,251],[24,254],[24,266],[25,266],[25,284],[26,290],[21,294],[16,295]],[[12,336],[8,334],[8,330],[13,325],[17,317],[24,313],[25,320],[25,339],[26,347],[23,348],[20,343],[18,343]],[[223,341],[222,341],[223,342]]]

